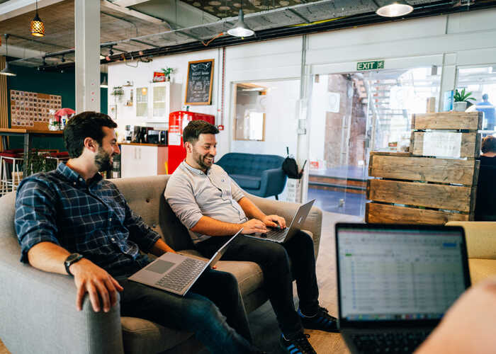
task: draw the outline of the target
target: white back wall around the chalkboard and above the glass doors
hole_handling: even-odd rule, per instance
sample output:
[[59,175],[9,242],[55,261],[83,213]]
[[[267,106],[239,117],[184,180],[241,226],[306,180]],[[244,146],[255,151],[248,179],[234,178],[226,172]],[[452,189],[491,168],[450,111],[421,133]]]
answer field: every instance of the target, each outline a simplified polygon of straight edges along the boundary
[[[306,64],[312,74],[354,72],[356,62],[369,59],[384,59],[385,69],[435,64],[443,67],[443,92],[453,89],[457,65],[496,63],[495,18],[496,9],[488,9],[308,35]],[[298,36],[226,48],[225,130],[218,135],[219,157],[229,151],[249,152],[246,149],[278,154],[280,147],[276,140],[267,139],[264,147],[232,141],[233,83],[300,78],[302,42],[302,37]],[[183,85],[181,94],[184,98],[188,61],[215,58],[213,104],[192,106],[191,110],[215,114],[219,118],[221,55],[222,50],[205,50],[157,57],[150,64],[140,63],[138,68],[125,67],[123,63],[111,64],[108,68],[109,92],[112,86],[124,84],[125,80],[134,80],[135,87],[139,82],[147,83],[152,79],[154,69],[167,65],[179,69],[174,74],[174,81]],[[112,100],[109,96],[109,104]],[[130,113],[123,115],[133,119]],[[219,120],[217,124],[220,124]],[[310,129],[312,127],[310,125]],[[280,129],[281,124],[267,125],[266,137],[277,139]],[[303,161],[308,156],[298,158]]]

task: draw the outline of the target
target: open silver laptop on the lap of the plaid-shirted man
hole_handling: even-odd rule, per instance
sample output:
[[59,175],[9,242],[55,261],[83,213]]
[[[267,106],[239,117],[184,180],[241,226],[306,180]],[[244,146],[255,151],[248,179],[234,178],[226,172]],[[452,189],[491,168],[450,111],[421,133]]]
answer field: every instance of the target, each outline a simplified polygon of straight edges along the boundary
[[213,266],[224,255],[229,248],[232,240],[242,232],[240,229],[229,241],[214,253],[208,261],[203,259],[184,256],[179,253],[164,253],[159,258],[145,268],[138,270],[129,277],[129,280],[141,282],[151,287],[172,292],[176,295],[184,296],[190,290],[193,284],[200,278],[208,266]]

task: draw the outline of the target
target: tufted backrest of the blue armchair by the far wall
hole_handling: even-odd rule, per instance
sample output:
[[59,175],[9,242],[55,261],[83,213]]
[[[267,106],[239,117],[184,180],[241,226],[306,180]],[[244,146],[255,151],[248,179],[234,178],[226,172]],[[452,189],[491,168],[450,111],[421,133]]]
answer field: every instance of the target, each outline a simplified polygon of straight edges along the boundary
[[260,176],[262,171],[282,168],[284,158],[277,155],[230,152],[216,162],[227,174]]

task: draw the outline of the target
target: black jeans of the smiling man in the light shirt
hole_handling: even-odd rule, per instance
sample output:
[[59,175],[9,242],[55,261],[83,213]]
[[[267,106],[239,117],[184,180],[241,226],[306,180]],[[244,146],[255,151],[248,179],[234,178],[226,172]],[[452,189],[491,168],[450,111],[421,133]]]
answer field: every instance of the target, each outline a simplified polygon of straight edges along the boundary
[[[211,257],[230,236],[213,236],[196,244],[205,257]],[[281,331],[293,334],[302,331],[300,316],[293,303],[293,278],[303,313],[315,313],[319,306],[319,288],[315,275],[313,241],[305,232],[298,232],[285,244],[238,236],[222,260],[252,261],[264,273],[264,288],[269,295]],[[291,269],[290,261],[291,260]]]

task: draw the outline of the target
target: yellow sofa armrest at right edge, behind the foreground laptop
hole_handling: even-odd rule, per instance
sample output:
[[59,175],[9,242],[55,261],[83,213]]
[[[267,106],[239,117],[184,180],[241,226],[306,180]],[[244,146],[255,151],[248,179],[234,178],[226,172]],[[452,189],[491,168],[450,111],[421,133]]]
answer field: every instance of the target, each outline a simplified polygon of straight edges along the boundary
[[496,259],[496,222],[446,222],[465,230],[468,258]]

